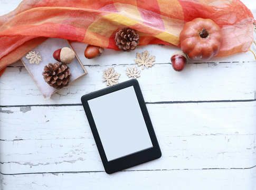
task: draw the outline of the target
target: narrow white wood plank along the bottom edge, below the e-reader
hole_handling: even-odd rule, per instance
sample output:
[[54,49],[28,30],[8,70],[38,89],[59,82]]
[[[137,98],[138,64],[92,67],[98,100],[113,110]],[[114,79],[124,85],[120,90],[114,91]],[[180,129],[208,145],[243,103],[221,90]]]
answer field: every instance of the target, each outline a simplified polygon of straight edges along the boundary
[[256,169],[159,170],[2,176],[2,189],[232,189],[253,190]]

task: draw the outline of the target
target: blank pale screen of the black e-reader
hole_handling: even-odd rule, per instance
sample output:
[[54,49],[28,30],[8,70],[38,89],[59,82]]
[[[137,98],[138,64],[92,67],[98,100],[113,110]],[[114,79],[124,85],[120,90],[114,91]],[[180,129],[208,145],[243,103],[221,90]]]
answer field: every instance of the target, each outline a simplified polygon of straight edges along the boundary
[[108,161],[153,147],[133,86],[88,104]]

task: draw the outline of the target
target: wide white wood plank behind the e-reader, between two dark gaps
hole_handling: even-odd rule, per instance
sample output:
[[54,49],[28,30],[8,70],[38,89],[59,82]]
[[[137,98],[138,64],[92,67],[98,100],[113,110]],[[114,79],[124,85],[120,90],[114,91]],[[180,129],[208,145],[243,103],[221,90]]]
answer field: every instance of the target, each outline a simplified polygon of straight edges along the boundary
[[[255,165],[255,102],[153,104],[147,108],[163,157],[135,169]],[[12,107],[2,112],[3,173],[103,170],[81,106]]]

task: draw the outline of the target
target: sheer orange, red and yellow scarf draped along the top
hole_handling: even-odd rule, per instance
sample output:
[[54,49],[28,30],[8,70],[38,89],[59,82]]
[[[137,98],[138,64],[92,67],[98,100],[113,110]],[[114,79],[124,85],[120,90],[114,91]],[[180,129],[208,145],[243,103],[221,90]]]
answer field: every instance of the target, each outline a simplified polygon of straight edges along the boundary
[[47,37],[118,50],[115,33],[124,26],[138,31],[139,45],[179,46],[184,23],[196,17],[221,27],[218,56],[249,50],[253,15],[239,0],[24,0],[0,17],[0,70]]

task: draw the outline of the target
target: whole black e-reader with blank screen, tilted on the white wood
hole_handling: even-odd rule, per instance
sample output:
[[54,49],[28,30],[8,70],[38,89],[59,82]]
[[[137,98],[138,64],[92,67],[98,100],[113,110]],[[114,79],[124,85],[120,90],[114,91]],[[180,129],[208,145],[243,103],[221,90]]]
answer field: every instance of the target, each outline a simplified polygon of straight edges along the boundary
[[81,101],[108,174],[161,157],[136,79],[86,94]]

